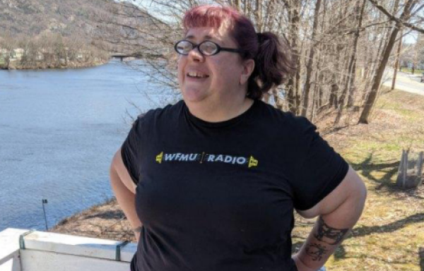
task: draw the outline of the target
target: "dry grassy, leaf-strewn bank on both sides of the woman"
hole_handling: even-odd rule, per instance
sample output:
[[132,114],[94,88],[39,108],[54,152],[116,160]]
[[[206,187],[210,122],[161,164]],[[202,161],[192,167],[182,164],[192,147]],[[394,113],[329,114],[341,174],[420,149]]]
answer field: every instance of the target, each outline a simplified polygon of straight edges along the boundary
[[[383,92],[370,124],[320,131],[365,181],[363,216],[326,264],[329,270],[420,271],[424,268],[424,186],[401,191],[394,185],[401,150],[424,151],[424,97],[399,90]],[[317,126],[326,126],[323,119]],[[314,219],[296,215],[293,251],[300,248]],[[52,231],[135,241],[115,200],[60,222]]]

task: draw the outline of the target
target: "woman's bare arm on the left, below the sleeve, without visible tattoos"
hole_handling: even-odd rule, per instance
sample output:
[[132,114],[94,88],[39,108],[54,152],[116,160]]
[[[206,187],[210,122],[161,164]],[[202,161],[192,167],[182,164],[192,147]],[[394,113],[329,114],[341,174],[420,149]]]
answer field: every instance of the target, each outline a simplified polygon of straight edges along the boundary
[[[121,207],[122,211],[124,212],[126,218],[129,221],[129,224],[131,224],[131,228],[141,228],[141,222],[137,216],[135,208],[136,195],[129,191],[128,188],[126,188],[121,179],[119,179],[117,171],[113,168],[110,169],[110,183],[112,185],[114,195],[117,198],[119,207]],[[140,232],[137,231],[135,234],[137,241],[139,241]]]

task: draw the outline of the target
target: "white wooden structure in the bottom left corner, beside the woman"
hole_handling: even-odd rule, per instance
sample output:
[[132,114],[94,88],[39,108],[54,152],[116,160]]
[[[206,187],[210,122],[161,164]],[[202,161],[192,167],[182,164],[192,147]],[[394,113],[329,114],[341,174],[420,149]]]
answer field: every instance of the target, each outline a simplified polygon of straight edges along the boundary
[[0,271],[129,271],[135,243],[28,229],[0,232]]

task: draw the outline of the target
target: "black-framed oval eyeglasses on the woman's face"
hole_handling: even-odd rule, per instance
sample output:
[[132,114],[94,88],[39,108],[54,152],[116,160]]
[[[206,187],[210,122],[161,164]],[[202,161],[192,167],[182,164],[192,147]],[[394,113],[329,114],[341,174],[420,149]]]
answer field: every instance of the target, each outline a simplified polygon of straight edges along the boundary
[[189,54],[192,49],[196,48],[199,48],[199,52],[204,56],[213,56],[221,51],[239,54],[242,53],[242,51],[239,49],[220,47],[218,44],[216,44],[215,42],[211,42],[210,40],[205,40],[204,42],[201,42],[199,44],[194,44],[193,42],[189,42],[188,40],[180,40],[175,44],[174,48],[178,54],[182,54],[184,56],[187,56],[187,54]]

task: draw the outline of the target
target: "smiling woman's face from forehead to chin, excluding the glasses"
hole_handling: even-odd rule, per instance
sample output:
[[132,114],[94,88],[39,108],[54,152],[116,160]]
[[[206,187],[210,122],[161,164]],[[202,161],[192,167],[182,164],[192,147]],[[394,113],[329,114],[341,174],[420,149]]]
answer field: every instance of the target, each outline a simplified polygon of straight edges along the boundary
[[[220,47],[237,49],[228,31],[222,28],[190,28],[184,40],[194,44],[211,40]],[[219,104],[237,95],[245,95],[249,77],[246,77],[245,70],[245,61],[240,54],[233,52],[203,56],[196,48],[187,56],[179,56],[178,81],[184,101]]]

